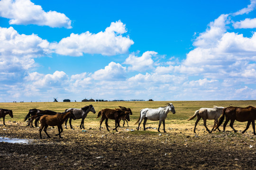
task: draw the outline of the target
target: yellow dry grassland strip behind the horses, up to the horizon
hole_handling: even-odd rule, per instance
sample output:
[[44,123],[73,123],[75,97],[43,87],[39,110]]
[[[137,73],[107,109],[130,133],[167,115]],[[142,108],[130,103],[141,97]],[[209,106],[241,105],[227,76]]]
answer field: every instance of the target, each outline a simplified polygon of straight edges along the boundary
[[[118,108],[118,106],[129,107],[133,115],[130,116],[131,121],[129,122],[130,127],[136,127],[134,125],[139,118],[139,113],[141,109],[144,108],[158,108],[163,107],[166,103],[172,102],[174,104],[176,114],[169,113],[166,119],[166,128],[192,128],[196,120],[187,121],[187,119],[192,116],[195,110],[201,107],[211,108],[213,105],[216,106],[238,106],[247,107],[249,105],[256,106],[256,101],[160,101],[160,102],[24,102],[24,103],[0,103],[0,108],[9,109],[13,111],[14,118],[11,119],[8,115],[6,116],[6,122],[12,124],[13,121],[23,122],[23,119],[28,113],[29,109],[37,108],[40,110],[54,110],[57,112],[63,112],[67,108],[81,108],[85,105],[92,104],[96,110],[96,114],[90,112],[85,119],[85,128],[95,128],[99,126],[99,119],[97,113],[101,109],[105,108]],[[9,122],[8,122],[9,121]],[[0,122],[1,123],[1,122]],[[25,124],[25,123],[24,123]],[[73,120],[72,124],[74,126],[80,125],[80,120]],[[114,126],[114,121],[109,121],[110,126]],[[209,128],[212,126],[213,121],[208,120],[207,125]],[[104,126],[104,123],[102,124]],[[147,121],[146,127],[158,127],[158,122]],[[246,122],[235,122],[234,125],[238,130],[246,127]],[[197,128],[204,128],[202,125],[202,120],[199,122]],[[227,127],[229,130],[229,127]]]

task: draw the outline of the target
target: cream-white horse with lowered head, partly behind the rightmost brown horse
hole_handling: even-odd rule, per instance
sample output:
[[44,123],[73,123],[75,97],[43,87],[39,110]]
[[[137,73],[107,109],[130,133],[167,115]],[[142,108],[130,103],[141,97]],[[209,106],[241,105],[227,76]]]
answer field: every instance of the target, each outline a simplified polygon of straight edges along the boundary
[[[211,129],[211,131],[207,128],[206,120],[214,119],[214,126],[217,125],[219,116],[223,113],[223,109],[224,107],[218,107],[218,106],[213,106],[213,108],[201,108],[199,110],[196,110],[195,114],[187,120],[192,120],[197,116],[197,120],[195,122],[195,128],[196,128],[197,123],[202,118],[204,127],[209,133],[211,133],[213,128]],[[195,128],[194,128],[194,133],[196,133]],[[218,127],[218,130],[219,130],[219,127]]]

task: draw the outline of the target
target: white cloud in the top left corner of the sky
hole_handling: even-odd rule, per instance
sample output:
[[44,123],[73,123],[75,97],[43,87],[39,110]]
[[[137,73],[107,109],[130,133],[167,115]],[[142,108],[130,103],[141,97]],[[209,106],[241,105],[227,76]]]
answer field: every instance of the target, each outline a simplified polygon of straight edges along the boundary
[[45,12],[30,0],[1,0],[0,16],[9,18],[9,24],[72,28],[71,20],[56,11]]

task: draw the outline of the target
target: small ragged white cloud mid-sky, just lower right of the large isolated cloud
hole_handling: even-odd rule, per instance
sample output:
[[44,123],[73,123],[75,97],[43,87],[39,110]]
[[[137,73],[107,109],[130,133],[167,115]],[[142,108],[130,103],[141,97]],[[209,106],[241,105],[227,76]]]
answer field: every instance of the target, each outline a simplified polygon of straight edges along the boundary
[[152,56],[155,56],[156,54],[157,52],[155,51],[146,51],[142,54],[141,57],[130,54],[129,57],[125,60],[124,64],[131,65],[128,67],[128,70],[145,71],[149,68],[152,68],[154,64]]

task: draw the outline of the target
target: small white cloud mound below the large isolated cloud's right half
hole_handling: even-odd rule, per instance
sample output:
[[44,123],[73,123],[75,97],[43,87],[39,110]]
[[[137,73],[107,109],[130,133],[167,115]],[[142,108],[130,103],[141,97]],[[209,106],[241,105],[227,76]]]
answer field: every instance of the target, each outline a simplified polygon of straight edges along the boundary
[[91,77],[94,80],[119,81],[126,78],[126,67],[119,63],[110,62],[104,69],[95,71]]

